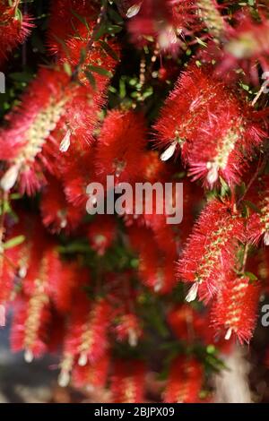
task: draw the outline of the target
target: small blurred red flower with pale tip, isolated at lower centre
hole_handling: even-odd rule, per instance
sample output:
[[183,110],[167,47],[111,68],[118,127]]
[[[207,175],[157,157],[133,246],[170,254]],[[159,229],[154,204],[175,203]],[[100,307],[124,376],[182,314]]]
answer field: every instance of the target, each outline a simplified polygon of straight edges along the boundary
[[127,340],[130,347],[136,347],[138,339],[143,334],[139,320],[132,313],[123,314],[119,318],[115,331],[117,339],[119,341]]

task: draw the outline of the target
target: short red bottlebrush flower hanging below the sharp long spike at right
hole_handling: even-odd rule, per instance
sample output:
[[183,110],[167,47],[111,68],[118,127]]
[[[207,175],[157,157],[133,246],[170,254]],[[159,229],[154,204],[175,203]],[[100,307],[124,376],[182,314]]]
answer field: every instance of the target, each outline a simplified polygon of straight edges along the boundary
[[256,325],[259,295],[259,284],[250,283],[247,277],[226,280],[213,303],[213,328],[226,332],[225,339],[234,334],[240,343],[248,343]]

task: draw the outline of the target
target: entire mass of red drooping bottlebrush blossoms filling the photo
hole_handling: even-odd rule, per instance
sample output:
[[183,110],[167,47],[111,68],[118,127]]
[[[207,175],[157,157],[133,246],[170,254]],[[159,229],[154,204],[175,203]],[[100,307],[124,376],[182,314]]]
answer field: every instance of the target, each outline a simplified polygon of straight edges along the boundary
[[[57,354],[60,386],[201,402],[250,344],[269,293],[265,3],[31,2],[44,25],[17,54],[50,64],[4,96],[0,325],[12,309],[27,362]],[[30,32],[20,10],[0,2],[0,64]]]

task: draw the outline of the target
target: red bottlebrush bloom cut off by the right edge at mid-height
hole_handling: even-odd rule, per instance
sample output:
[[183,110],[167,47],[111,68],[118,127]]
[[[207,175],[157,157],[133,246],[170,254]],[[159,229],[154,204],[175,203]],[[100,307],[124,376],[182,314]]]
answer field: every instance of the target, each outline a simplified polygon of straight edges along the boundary
[[247,237],[255,245],[261,238],[265,245],[269,245],[269,177],[260,178],[258,183],[252,186],[247,198],[255,203],[257,208],[247,220]]

